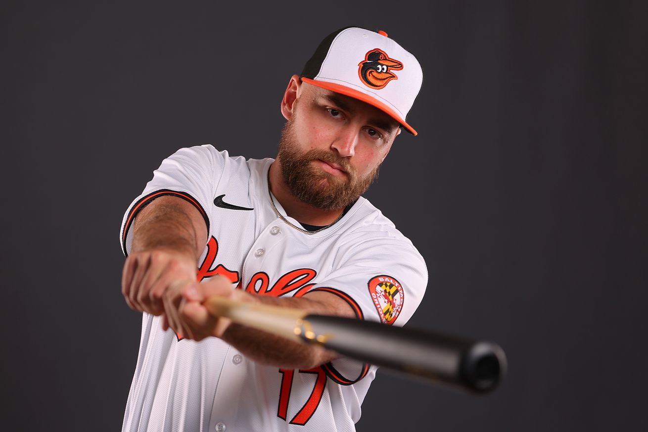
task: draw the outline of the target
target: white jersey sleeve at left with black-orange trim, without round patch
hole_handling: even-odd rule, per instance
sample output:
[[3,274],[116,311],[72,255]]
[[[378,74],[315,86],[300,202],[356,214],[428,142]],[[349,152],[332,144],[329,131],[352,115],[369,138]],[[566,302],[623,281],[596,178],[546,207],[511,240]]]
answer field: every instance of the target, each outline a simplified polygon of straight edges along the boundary
[[124,255],[130,251],[131,227],[137,213],[165,195],[173,195],[193,204],[205,219],[209,232],[210,217],[205,209],[210,208],[227,157],[226,151],[218,152],[212,145],[201,145],[179,149],[163,160],[144,191],[133,200],[124,214],[119,233]]

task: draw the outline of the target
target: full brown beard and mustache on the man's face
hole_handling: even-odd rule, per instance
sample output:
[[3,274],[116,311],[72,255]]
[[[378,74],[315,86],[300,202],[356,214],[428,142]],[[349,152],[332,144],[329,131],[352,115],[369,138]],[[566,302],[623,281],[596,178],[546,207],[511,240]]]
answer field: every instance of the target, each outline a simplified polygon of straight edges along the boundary
[[[300,152],[294,123],[286,122],[279,142],[281,175],[290,193],[299,200],[320,210],[339,210],[355,202],[378,177],[380,164],[367,176],[360,178],[346,158],[327,150]],[[338,177],[312,165],[314,160],[335,163],[346,173]]]

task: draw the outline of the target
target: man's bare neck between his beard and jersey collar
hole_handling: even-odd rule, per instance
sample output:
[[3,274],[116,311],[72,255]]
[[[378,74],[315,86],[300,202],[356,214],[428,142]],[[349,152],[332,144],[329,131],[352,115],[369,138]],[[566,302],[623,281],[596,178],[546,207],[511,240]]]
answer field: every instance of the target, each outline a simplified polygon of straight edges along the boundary
[[286,215],[297,219],[297,221],[315,226],[332,224],[344,211],[343,208],[336,210],[321,210],[302,200],[294,197],[281,175],[281,161],[279,158],[270,165],[270,190],[272,195],[286,211]]

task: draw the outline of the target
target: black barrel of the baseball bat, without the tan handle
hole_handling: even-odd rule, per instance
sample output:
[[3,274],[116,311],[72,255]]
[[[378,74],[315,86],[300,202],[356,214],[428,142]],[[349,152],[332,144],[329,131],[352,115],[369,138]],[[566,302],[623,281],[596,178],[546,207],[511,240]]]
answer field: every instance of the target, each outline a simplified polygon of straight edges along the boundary
[[303,321],[301,337],[305,341],[365,363],[472,392],[493,390],[506,369],[502,348],[491,342],[353,318],[308,315]]

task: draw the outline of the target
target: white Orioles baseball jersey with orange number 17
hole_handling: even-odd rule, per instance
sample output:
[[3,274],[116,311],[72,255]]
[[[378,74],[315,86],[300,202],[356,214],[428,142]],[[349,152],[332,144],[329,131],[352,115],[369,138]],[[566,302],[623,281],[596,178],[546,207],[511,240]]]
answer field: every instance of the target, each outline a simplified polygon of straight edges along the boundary
[[[296,230],[272,207],[266,178],[272,162],[230,157],[211,145],[178,150],[126,211],[124,254],[137,211],[175,195],[194,204],[207,224],[200,280],[220,274],[268,296],[324,290],[347,301],[358,318],[404,324],[428,277],[411,241],[362,197],[329,228]],[[350,359],[310,370],[259,365],[215,337],[179,339],[145,313],[122,430],[354,431],[375,372]]]

